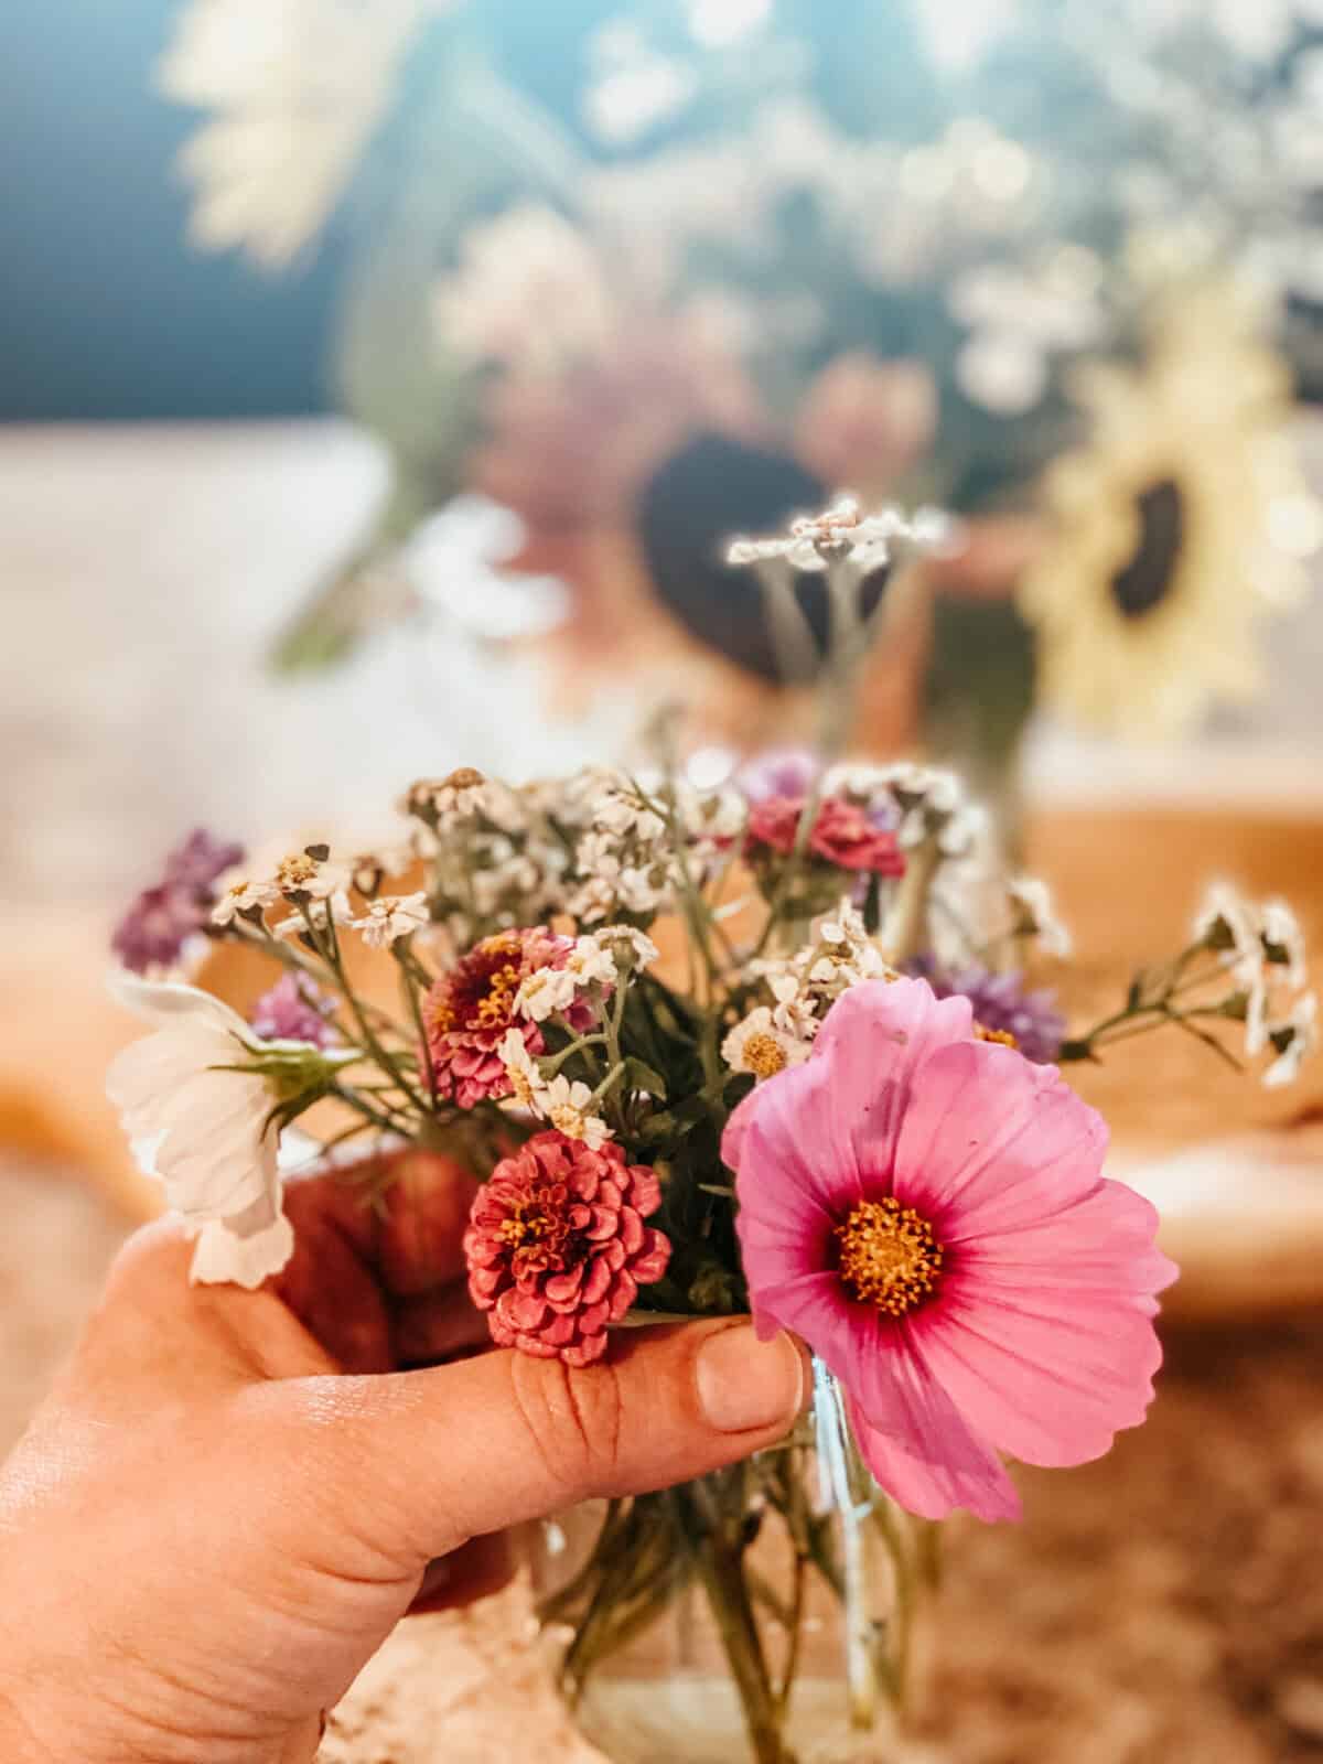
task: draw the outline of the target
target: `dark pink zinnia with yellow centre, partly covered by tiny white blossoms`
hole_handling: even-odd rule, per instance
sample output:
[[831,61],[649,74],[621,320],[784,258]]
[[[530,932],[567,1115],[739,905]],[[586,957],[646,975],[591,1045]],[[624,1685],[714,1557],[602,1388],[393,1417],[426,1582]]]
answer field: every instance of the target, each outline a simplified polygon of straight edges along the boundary
[[[437,1095],[473,1108],[513,1094],[499,1053],[506,1030],[522,1030],[533,1055],[545,1046],[538,1025],[515,1016],[519,988],[538,968],[563,968],[573,947],[572,937],[559,937],[542,924],[497,931],[483,937],[441,975],[423,1000]],[[587,1023],[579,1005],[572,1007],[568,1020],[575,1028]]]

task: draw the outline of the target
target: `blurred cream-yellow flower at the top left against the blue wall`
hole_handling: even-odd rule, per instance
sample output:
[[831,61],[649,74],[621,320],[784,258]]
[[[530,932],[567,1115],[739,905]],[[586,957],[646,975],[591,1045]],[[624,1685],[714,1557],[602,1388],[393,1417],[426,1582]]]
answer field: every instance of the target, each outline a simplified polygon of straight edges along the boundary
[[208,111],[180,164],[192,236],[288,263],[326,222],[420,26],[452,0],[192,0],[157,67]]

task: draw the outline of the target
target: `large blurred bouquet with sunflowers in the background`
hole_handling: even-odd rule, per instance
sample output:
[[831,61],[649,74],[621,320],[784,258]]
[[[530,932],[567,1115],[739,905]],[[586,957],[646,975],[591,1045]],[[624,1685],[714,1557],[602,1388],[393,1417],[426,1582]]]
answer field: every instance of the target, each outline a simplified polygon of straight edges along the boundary
[[[1304,5],[1245,34],[1185,0],[993,0],[977,28],[958,0],[191,0],[166,83],[208,111],[203,238],[272,263],[340,229],[335,377],[392,459],[280,665],[415,617],[533,654],[561,713],[679,695],[757,746],[796,695],[725,543],[850,490],[961,534],[878,573],[864,744],[995,789],[1039,690],[1125,732],[1242,693],[1238,633],[1318,522],[1289,372],[1212,289],[1252,261],[1311,383]],[[235,55],[256,11],[265,51]],[[1143,326],[1136,236],[1180,242]],[[517,538],[420,549],[473,492]]]

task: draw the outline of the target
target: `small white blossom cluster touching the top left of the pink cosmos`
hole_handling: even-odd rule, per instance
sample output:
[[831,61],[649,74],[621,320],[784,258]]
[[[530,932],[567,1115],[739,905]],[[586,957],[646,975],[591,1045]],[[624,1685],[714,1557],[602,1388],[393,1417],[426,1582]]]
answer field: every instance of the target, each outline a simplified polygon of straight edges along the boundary
[[774,1078],[808,1058],[813,1037],[841,993],[861,981],[896,979],[896,970],[868,935],[861,914],[841,900],[794,956],[753,963],[771,991],[721,1043],[721,1058],[736,1073]]

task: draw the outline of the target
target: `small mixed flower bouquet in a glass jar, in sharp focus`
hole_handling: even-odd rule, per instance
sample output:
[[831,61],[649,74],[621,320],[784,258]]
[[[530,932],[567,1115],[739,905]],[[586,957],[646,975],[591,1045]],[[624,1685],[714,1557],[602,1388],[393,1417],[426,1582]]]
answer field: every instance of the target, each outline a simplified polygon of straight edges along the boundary
[[[824,744],[870,584],[928,531],[840,506],[734,549],[787,642],[797,584],[826,594]],[[1150,1030],[1238,1064],[1224,1030],[1289,1080],[1314,1041],[1295,919],[1217,889],[1184,949],[1067,1027],[1025,979],[1067,951],[1048,893],[947,773],[792,753],[711,783],[662,744],[637,771],[455,771],[402,808],[395,852],[270,871],[194,834],[120,926],[155,1027],[111,1094],[198,1230],[194,1279],[280,1270],[302,1124],[319,1157],[400,1141],[482,1180],[469,1293],[505,1349],[582,1369],[630,1328],[748,1312],[799,1335],[811,1416],[550,1528],[543,1616],[616,1757],[714,1736],[757,1764],[852,1757],[903,1695],[930,1522],[1014,1519],[1004,1457],[1099,1457],[1152,1397],[1177,1270],[1062,1067]],[[189,984],[206,940],[270,963],[247,1021]],[[663,1633],[665,1746],[639,1750]]]

